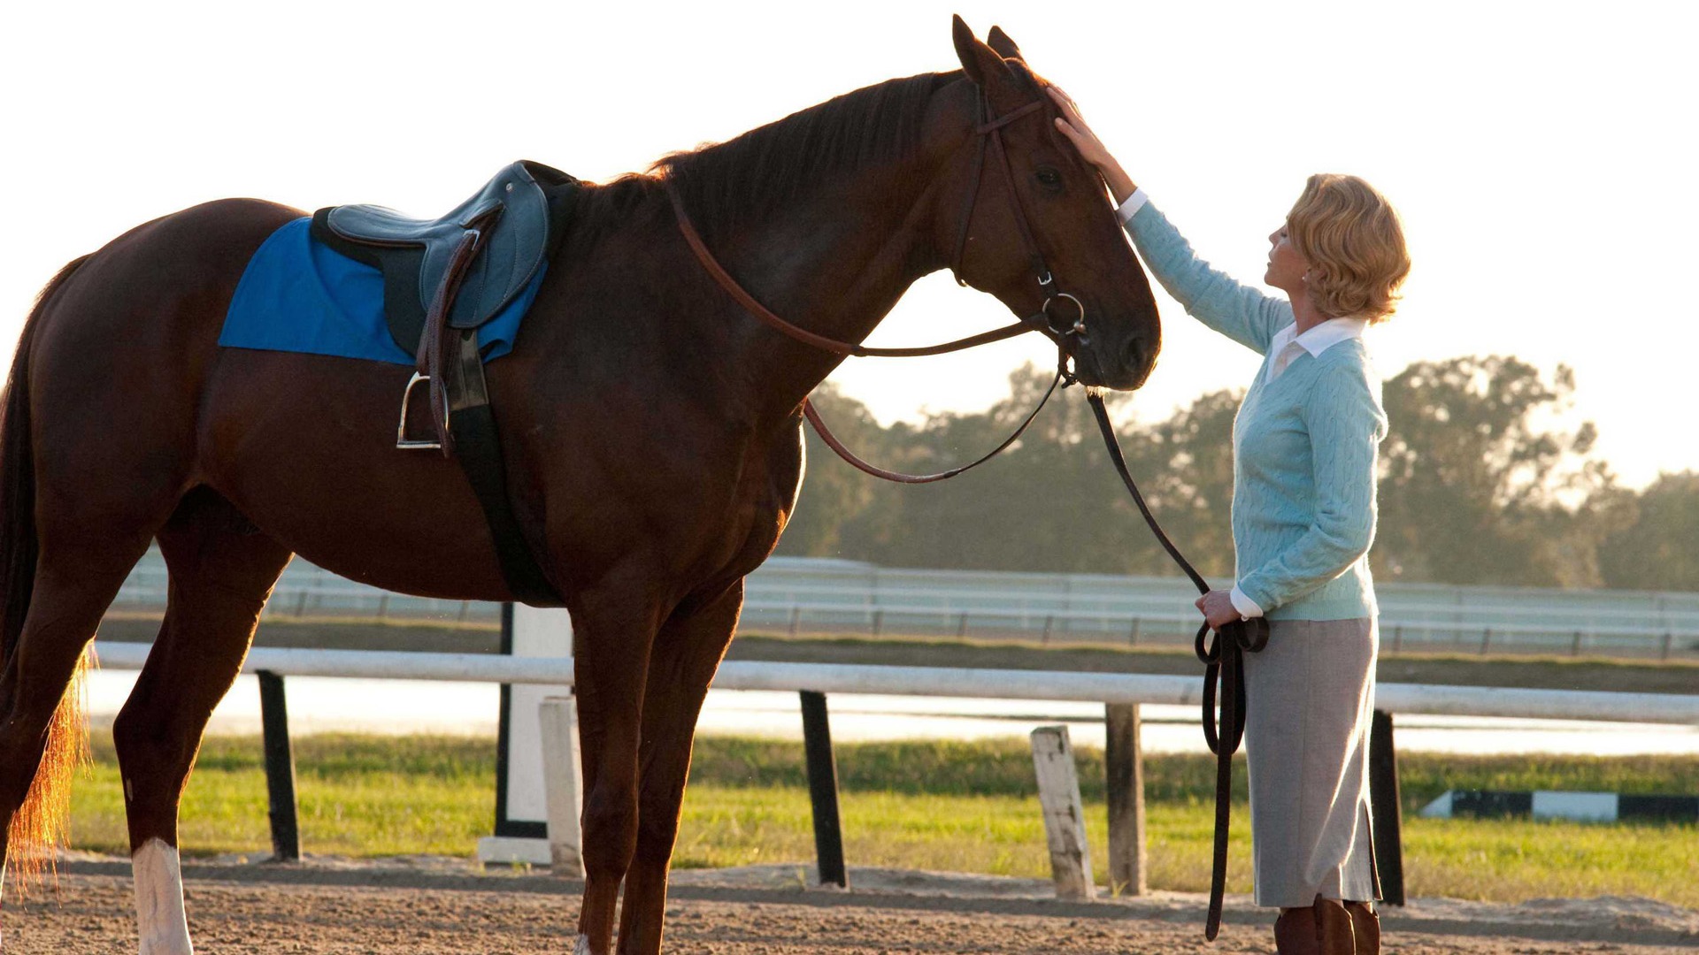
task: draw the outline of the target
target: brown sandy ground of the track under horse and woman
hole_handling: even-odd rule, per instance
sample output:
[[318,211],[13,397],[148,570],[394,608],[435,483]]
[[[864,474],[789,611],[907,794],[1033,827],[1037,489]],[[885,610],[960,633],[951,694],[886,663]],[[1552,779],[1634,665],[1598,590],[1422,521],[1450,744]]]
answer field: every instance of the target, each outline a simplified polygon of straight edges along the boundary
[[[185,867],[202,955],[569,952],[581,884],[477,872],[457,860]],[[1057,902],[1041,882],[851,868],[851,889],[805,889],[797,865],[675,873],[668,950],[714,955],[975,952],[1055,955],[1262,952],[1271,913],[1233,897],[1203,940],[1205,899]],[[7,902],[7,953],[134,952],[129,865],[82,856],[59,887]],[[1648,899],[1546,899],[1517,906],[1417,899],[1383,913],[1386,952],[1407,955],[1672,953],[1699,948],[1699,913]]]

